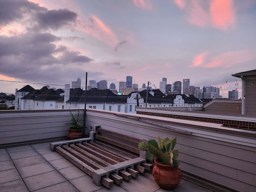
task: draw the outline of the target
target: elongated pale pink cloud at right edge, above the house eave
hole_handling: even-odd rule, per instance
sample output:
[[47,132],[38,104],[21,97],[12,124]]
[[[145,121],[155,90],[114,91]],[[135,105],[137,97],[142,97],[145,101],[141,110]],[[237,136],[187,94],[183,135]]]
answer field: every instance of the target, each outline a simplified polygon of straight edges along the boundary
[[239,50],[239,51],[230,51],[219,54],[212,58],[210,62],[204,65],[206,68],[214,67],[230,67],[234,64],[244,63],[256,58],[252,50]]

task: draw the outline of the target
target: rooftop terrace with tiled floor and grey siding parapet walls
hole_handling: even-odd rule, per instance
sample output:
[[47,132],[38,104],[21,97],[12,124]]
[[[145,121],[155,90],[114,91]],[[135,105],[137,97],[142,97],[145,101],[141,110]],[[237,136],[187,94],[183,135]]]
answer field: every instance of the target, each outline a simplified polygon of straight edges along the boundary
[[[76,110],[72,110],[75,112]],[[1,191],[108,191],[50,151],[52,141],[66,140],[70,110],[1,111]],[[238,117],[239,118],[239,117]],[[86,110],[86,125],[139,139],[177,136],[183,179],[175,192],[256,190],[256,132],[222,124],[158,116]],[[150,173],[114,191],[162,192]]]

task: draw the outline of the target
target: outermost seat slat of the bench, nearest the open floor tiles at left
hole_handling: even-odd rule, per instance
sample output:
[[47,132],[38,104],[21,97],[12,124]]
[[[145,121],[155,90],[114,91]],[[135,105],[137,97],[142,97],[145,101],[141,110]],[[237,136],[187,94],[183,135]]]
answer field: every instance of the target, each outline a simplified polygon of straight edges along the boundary
[[86,172],[88,175],[92,177],[94,169],[90,166],[86,165],[84,162],[80,161],[78,158],[74,157],[70,153],[66,152],[64,149],[60,148],[59,146],[55,147],[55,151],[64,156],[67,160],[72,162],[78,168]]

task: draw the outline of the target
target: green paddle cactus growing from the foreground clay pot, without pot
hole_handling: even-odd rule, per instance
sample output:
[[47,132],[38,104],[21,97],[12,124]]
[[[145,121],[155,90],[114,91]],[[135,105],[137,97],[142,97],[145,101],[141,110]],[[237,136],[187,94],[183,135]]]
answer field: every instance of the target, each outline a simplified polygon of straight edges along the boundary
[[146,158],[150,161],[154,160],[154,156],[158,158],[159,163],[164,165],[172,165],[176,168],[180,166],[180,162],[177,159],[179,156],[178,150],[173,150],[176,145],[177,138],[173,140],[165,138],[162,140],[158,136],[158,143],[155,140],[149,140],[148,144],[140,142],[138,147],[142,151],[146,151]]

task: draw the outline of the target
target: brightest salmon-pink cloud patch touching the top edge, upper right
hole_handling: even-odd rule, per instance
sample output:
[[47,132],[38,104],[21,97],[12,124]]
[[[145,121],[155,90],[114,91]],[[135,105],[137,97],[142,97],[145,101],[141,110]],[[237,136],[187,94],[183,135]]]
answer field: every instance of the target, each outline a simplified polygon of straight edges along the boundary
[[210,5],[213,26],[222,30],[234,26],[234,12],[233,0],[213,0]]

